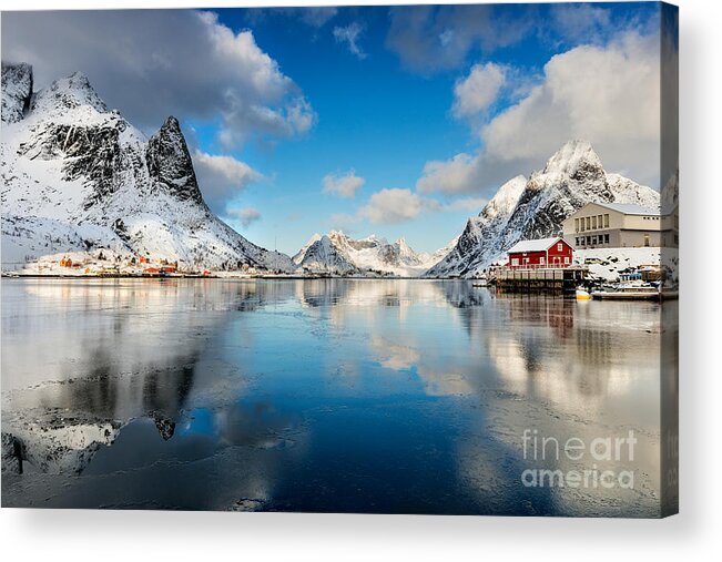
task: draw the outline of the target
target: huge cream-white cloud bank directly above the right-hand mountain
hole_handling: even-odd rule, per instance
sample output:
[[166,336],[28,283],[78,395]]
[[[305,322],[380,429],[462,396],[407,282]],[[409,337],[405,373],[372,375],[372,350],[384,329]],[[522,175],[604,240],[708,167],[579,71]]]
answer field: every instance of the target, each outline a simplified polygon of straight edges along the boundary
[[428,162],[417,190],[485,193],[539,170],[570,139],[589,140],[608,171],[659,187],[659,43],[626,32],[552,57],[518,103],[481,125],[477,154]]

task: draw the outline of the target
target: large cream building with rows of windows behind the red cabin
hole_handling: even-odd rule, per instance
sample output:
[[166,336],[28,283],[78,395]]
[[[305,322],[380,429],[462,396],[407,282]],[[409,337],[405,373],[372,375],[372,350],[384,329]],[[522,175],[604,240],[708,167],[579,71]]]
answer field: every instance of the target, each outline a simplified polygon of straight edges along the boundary
[[576,249],[679,246],[679,215],[623,203],[588,203],[563,223],[563,237]]

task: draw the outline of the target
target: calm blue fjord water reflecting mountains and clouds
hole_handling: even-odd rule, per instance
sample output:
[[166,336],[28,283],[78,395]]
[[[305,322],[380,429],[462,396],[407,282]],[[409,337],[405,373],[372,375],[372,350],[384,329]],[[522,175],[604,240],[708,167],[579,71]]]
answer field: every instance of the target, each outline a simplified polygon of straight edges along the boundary
[[[654,517],[660,333],[465,280],[3,279],[2,504]],[[522,483],[592,466],[633,488]]]

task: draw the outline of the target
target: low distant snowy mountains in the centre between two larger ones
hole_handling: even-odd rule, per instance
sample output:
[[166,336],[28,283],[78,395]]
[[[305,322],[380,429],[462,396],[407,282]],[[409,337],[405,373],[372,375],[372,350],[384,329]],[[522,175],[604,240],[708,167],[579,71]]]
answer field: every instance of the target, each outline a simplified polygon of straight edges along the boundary
[[375,235],[353,239],[343,232],[314,234],[293,257],[298,273],[334,275],[388,274],[418,277],[450,248],[434,254],[417,253],[404,238],[389,244]]

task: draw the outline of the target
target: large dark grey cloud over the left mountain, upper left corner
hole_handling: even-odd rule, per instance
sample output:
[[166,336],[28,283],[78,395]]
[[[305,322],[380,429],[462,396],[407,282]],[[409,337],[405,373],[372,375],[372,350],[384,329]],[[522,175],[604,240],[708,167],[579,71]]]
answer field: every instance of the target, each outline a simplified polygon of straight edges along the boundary
[[169,114],[220,119],[230,145],[303,134],[316,119],[252,31],[236,33],[207,11],[8,12],[2,57],[31,63],[40,88],[84,72],[109,105],[145,131]]

